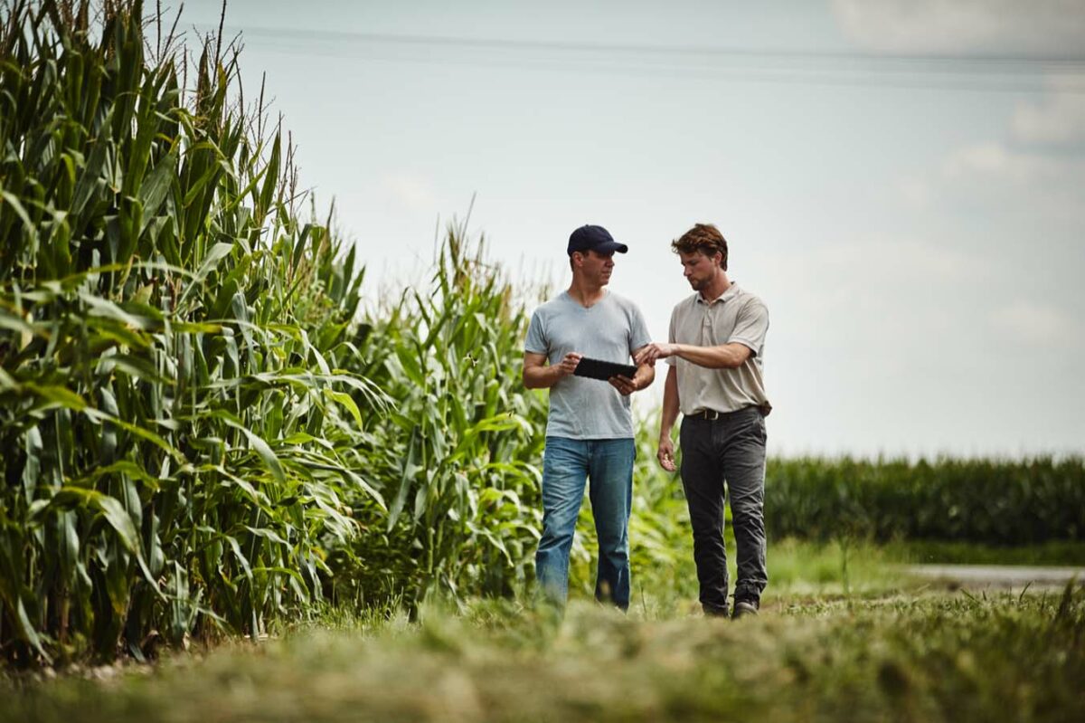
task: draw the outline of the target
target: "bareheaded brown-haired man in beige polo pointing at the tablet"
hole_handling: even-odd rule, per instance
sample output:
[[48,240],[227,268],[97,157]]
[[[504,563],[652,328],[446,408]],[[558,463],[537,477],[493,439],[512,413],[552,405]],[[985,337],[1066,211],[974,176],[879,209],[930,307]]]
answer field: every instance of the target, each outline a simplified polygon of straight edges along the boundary
[[706,614],[726,616],[724,483],[730,497],[738,581],[733,617],[756,614],[768,583],[765,568],[765,416],[771,406],[762,378],[768,308],[727,278],[727,241],[698,224],[672,249],[693,295],[671,315],[666,344],[652,343],[637,364],[665,358],[658,458],[675,470],[671,430],[681,410],[681,481],[693,528],[693,559]]

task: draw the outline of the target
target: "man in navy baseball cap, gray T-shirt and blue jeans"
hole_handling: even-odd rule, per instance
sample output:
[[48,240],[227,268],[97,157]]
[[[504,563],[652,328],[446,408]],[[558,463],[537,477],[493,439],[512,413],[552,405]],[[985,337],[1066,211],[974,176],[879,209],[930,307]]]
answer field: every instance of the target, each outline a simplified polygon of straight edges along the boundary
[[640,309],[609,289],[614,254],[628,253],[602,226],[569,237],[569,289],[532,314],[523,381],[550,390],[542,453],[542,530],[535,554],[539,600],[563,608],[569,555],[584,489],[599,540],[596,598],[629,607],[629,510],[636,459],[629,395],[655,379],[649,365],[607,382],[576,375],[583,358],[628,364],[651,334]]

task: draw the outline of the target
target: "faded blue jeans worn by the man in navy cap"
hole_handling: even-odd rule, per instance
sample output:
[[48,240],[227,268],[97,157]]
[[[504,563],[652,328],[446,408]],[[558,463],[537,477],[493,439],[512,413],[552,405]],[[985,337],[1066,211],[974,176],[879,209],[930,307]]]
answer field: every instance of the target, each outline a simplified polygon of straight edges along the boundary
[[585,479],[599,537],[596,599],[629,607],[629,507],[633,498],[630,439],[546,439],[542,457],[542,537],[535,574],[542,595],[559,606],[569,596],[569,553],[584,499]]

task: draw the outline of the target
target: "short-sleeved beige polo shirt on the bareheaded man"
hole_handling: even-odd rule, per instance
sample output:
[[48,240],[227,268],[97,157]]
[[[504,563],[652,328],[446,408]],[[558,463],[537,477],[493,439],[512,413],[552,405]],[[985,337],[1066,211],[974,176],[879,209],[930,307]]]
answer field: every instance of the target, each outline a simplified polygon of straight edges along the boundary
[[768,307],[735,282],[711,303],[700,293],[680,301],[671,313],[668,338],[672,344],[719,346],[737,342],[753,352],[737,369],[709,369],[677,356],[667,357],[667,364],[677,370],[681,413],[761,407],[768,414],[773,407],[762,377],[767,331]]

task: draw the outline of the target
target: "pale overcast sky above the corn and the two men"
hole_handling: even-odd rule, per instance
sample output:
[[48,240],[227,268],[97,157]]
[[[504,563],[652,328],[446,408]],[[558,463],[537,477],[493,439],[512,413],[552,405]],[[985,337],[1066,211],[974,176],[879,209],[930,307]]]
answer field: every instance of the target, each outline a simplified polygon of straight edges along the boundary
[[610,229],[612,289],[665,340],[669,242],[714,223],[769,307],[771,454],[1085,454],[1085,0],[233,0],[226,25],[372,295],[474,195],[514,278],[566,283],[570,231]]

